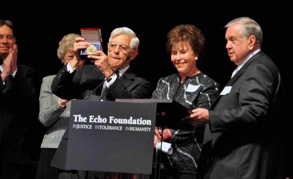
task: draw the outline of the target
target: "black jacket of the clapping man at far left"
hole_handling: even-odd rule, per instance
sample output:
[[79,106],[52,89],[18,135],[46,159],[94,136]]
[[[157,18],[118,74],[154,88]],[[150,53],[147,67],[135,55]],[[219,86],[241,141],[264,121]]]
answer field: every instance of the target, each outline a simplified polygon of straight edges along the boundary
[[0,141],[10,163],[31,163],[26,120],[30,119],[27,109],[37,101],[35,76],[32,68],[17,65],[16,75],[10,75],[5,85],[0,78]]

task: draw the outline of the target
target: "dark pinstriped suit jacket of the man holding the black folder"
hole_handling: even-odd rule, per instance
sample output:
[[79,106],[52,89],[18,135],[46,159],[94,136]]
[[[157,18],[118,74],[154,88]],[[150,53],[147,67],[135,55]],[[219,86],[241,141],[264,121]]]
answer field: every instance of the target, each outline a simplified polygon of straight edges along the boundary
[[209,111],[200,178],[284,178],[283,85],[273,61],[256,53]]

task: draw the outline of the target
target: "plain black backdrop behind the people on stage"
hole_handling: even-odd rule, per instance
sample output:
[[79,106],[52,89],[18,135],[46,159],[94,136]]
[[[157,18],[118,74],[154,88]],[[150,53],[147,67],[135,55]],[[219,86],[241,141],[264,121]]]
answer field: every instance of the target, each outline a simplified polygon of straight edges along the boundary
[[[228,3],[228,2],[226,2]],[[212,3],[211,3],[212,4]],[[56,74],[63,64],[57,57],[58,42],[68,33],[80,34],[80,28],[99,27],[103,38],[103,51],[107,53],[107,42],[110,32],[116,27],[129,27],[140,40],[138,56],[131,62],[133,71],[151,82],[156,87],[161,77],[176,72],[170,60],[170,54],[165,50],[166,35],[178,24],[194,24],[203,32],[207,40],[207,53],[204,62],[198,68],[206,75],[224,87],[236,68],[225,49],[225,29],[230,20],[249,16],[262,27],[263,45],[261,49],[274,61],[284,81],[286,101],[286,174],[292,176],[292,120],[291,110],[291,24],[290,9],[279,3],[270,8],[258,9],[243,2],[241,5],[222,4],[223,8],[212,10],[210,6],[194,6],[177,2],[172,7],[153,7],[139,5],[136,8],[119,7],[113,2],[100,12],[87,8],[80,11],[77,7],[67,6],[47,7],[39,9],[24,9],[21,13],[4,13],[2,20],[12,20],[16,25],[16,44],[18,45],[18,62],[34,68],[38,72],[38,82],[43,77]],[[78,5],[76,5],[78,6]],[[151,6],[151,7],[148,7]],[[190,6],[190,7],[188,7]],[[216,6],[216,5],[213,5]],[[219,5],[220,6],[220,5]],[[245,7],[238,10],[239,6]],[[262,7],[262,6],[259,6]],[[49,9],[49,10],[44,10]],[[122,10],[121,10],[122,9]],[[147,9],[147,10],[141,10]],[[96,13],[93,13],[96,12]],[[38,89],[39,91],[39,89]],[[33,110],[34,111],[34,110]],[[37,110],[35,110],[37,111]],[[31,120],[37,121],[37,115]],[[44,128],[35,122],[33,136],[34,158],[38,160],[39,146],[42,141]]]

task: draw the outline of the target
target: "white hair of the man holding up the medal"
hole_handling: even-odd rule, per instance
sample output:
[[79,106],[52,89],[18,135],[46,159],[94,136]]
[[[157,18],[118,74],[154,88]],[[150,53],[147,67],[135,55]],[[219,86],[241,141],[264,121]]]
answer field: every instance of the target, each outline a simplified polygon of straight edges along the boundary
[[132,37],[131,41],[130,41],[130,47],[132,49],[137,49],[139,46],[139,39],[136,37],[135,33],[128,27],[120,27],[120,28],[116,28],[111,32],[110,38],[109,38],[109,42],[111,42],[112,38],[114,38],[115,36],[118,35],[128,35],[130,37]]

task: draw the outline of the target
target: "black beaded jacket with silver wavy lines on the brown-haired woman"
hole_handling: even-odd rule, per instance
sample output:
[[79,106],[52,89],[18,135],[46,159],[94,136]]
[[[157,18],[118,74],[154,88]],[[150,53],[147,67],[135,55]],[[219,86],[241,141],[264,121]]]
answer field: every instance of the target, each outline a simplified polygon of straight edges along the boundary
[[[179,74],[161,78],[153,92],[153,99],[173,99],[184,107],[211,108],[219,91],[219,84],[203,73],[186,77],[181,83]],[[181,120],[181,119],[178,119]],[[161,170],[182,174],[196,174],[202,149],[204,125],[192,130],[171,130],[173,153],[163,153]]]

